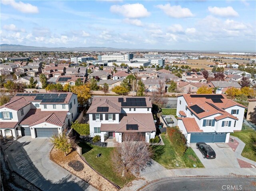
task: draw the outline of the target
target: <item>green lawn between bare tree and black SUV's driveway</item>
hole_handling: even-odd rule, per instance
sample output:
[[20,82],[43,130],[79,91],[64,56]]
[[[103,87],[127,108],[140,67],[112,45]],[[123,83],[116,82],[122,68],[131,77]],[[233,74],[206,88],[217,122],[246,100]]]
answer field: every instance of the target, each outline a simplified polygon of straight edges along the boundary
[[[188,148],[184,156],[178,156],[172,146],[167,135],[161,135],[164,146],[152,146],[154,150],[153,159],[166,167],[167,169],[176,168],[194,168],[193,164],[198,168],[204,168],[200,159],[196,156],[192,148]],[[179,166],[176,165],[178,163]]]

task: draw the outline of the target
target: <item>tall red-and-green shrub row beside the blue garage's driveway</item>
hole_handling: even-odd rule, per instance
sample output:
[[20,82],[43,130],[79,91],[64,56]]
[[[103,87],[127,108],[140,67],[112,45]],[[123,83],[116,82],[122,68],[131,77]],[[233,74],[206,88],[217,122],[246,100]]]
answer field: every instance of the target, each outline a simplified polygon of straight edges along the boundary
[[177,154],[183,156],[187,150],[187,140],[177,127],[167,128],[167,134]]

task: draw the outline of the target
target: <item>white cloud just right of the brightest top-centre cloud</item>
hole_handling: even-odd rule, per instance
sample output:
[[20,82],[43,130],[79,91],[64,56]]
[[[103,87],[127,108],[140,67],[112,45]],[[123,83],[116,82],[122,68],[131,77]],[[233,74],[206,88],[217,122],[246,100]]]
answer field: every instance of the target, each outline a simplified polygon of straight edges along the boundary
[[181,6],[171,6],[169,3],[165,5],[157,5],[157,8],[160,8],[164,13],[170,17],[174,18],[188,18],[193,17],[194,15],[188,8],[182,8]]

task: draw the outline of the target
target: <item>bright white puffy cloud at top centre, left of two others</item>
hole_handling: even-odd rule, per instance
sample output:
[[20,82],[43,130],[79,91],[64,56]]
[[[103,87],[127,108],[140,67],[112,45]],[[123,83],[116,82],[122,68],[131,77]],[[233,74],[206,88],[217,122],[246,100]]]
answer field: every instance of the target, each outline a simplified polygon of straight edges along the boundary
[[126,18],[141,18],[150,16],[150,12],[140,3],[112,5],[110,7],[112,13],[120,14]]

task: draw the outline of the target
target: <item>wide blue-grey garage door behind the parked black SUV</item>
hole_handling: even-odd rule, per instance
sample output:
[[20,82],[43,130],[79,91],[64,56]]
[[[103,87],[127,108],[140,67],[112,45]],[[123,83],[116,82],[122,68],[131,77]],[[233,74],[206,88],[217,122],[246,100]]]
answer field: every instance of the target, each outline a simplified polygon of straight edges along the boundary
[[226,133],[192,133],[190,143],[223,143],[226,140]]

